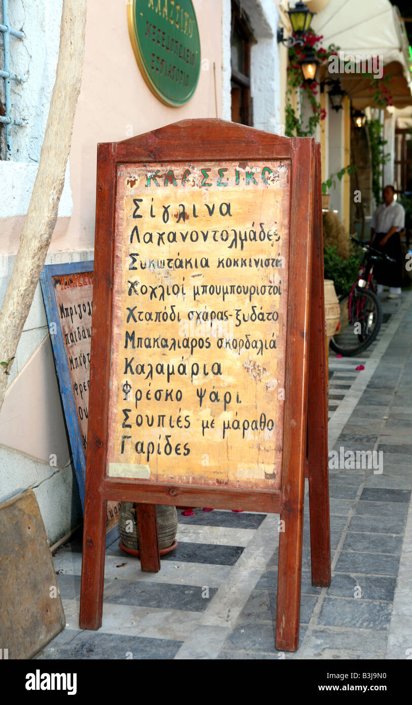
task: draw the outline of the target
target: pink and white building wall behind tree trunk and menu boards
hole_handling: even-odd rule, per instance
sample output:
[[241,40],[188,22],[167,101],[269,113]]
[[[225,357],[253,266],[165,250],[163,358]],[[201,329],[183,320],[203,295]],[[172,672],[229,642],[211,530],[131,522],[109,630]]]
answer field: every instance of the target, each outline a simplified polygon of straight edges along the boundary
[[[13,130],[15,159],[0,161],[0,306],[40,159],[56,71],[62,0],[9,0],[9,4],[11,25],[25,32],[23,42],[11,42],[11,69],[27,78],[13,86],[13,110],[28,124]],[[174,109],[160,103],[143,80],[128,36],[126,2],[87,4],[82,87],[46,264],[93,259],[98,142],[124,140],[186,118],[222,116],[222,0],[193,0],[193,5],[202,70],[193,98]],[[48,462],[51,454],[58,460],[56,467]],[[39,285],[0,412],[0,502],[28,487],[34,489],[51,544],[81,520],[69,456]]]

